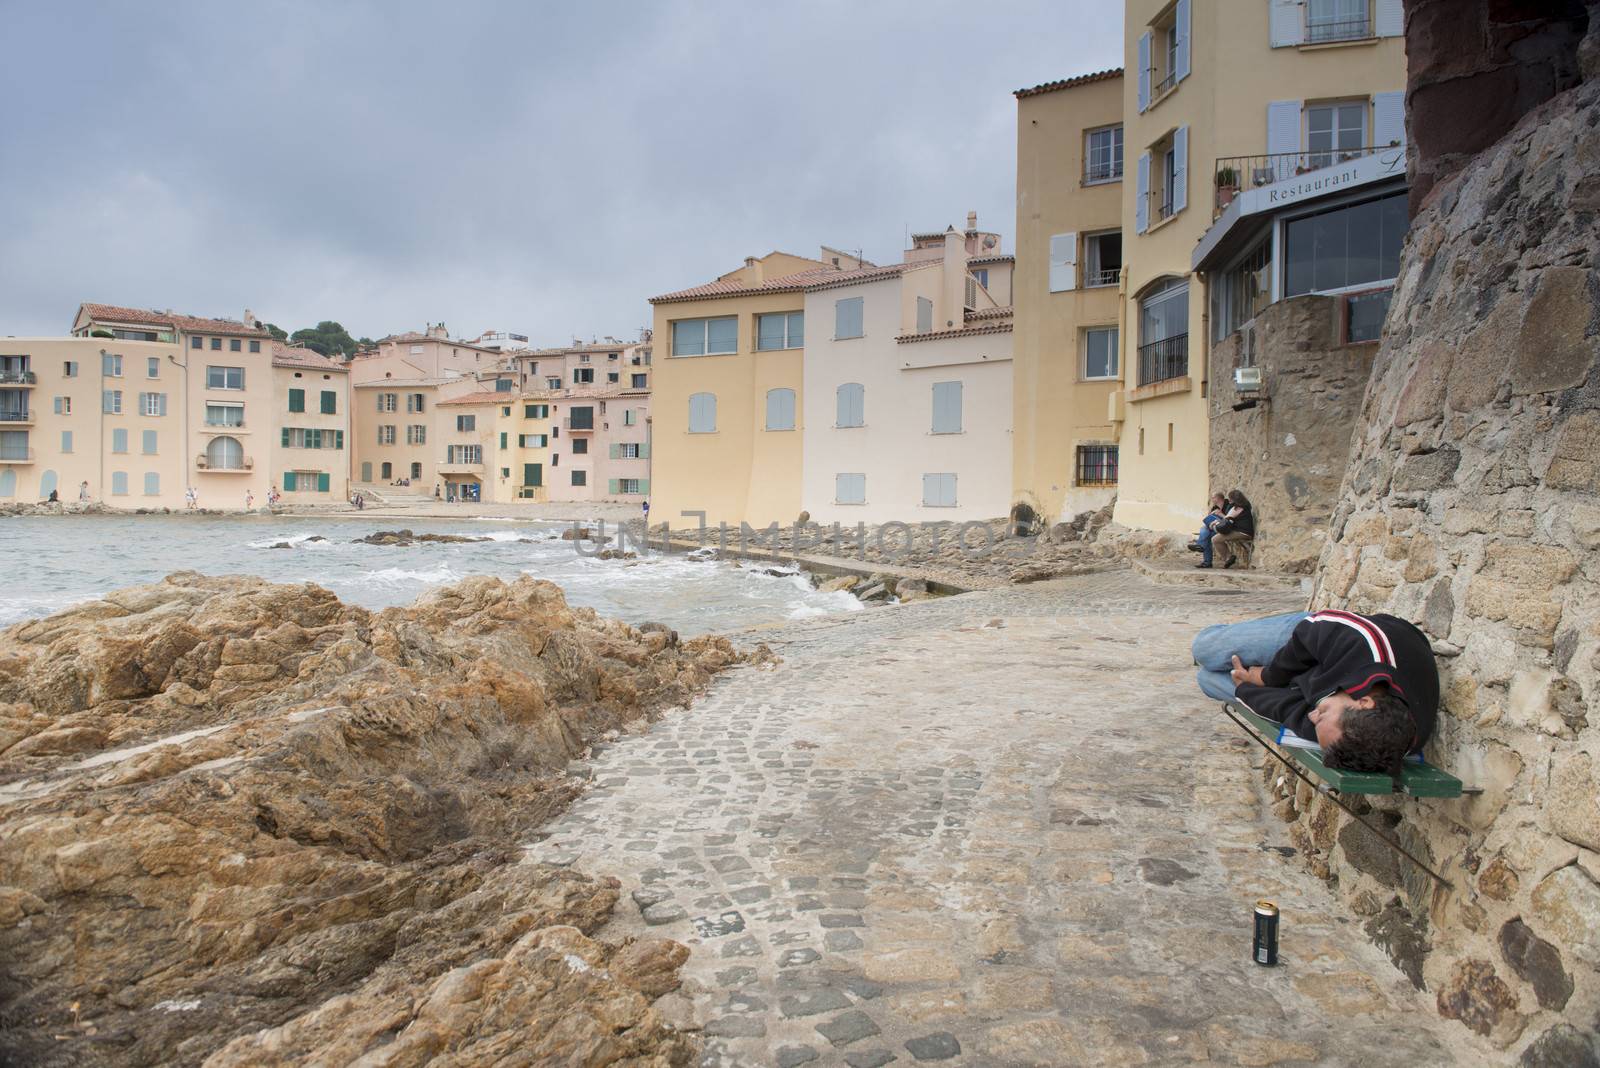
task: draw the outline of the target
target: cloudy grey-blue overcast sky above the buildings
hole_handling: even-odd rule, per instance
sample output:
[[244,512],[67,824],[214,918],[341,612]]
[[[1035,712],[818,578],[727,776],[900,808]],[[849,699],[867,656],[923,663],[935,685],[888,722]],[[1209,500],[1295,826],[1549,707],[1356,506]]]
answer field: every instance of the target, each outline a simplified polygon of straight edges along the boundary
[[632,337],[774,248],[1014,238],[1011,90],[1110,0],[0,0],[0,334],[80,301]]

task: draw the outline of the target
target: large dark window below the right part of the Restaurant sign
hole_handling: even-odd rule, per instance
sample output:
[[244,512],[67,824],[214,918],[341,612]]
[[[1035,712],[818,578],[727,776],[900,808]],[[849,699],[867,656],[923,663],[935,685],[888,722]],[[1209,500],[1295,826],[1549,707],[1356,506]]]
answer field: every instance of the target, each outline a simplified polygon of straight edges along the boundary
[[1283,227],[1283,294],[1394,278],[1400,273],[1405,229],[1405,193],[1290,219]]

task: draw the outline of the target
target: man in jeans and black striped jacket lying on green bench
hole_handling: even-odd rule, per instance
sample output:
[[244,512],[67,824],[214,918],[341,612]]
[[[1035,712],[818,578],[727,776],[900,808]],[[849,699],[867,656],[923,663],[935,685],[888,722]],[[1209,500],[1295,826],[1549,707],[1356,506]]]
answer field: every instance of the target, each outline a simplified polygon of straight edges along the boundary
[[1192,651],[1206,697],[1237,697],[1315,740],[1328,767],[1398,775],[1400,761],[1434,734],[1434,651],[1395,616],[1323,609],[1218,624]]

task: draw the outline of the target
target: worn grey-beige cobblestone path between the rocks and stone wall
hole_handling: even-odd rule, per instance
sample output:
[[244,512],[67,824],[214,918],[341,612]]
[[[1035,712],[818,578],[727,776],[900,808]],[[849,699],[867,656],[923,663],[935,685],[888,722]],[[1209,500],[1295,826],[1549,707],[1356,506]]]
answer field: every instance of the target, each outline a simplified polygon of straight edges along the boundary
[[530,854],[691,946],[706,1065],[1451,1063],[1194,691],[1198,625],[1294,608],[1118,571],[763,632]]

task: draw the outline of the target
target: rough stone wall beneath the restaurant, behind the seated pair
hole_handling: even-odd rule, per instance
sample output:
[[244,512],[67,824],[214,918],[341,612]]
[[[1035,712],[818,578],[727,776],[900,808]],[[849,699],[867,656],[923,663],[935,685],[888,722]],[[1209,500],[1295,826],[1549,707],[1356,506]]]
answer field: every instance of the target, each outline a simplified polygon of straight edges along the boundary
[[1378,342],[1341,344],[1336,297],[1280,301],[1256,317],[1254,360],[1262,392],[1234,411],[1242,334],[1211,347],[1211,491],[1243,489],[1256,507],[1256,555],[1264,571],[1309,574],[1350,454],[1350,430]]

